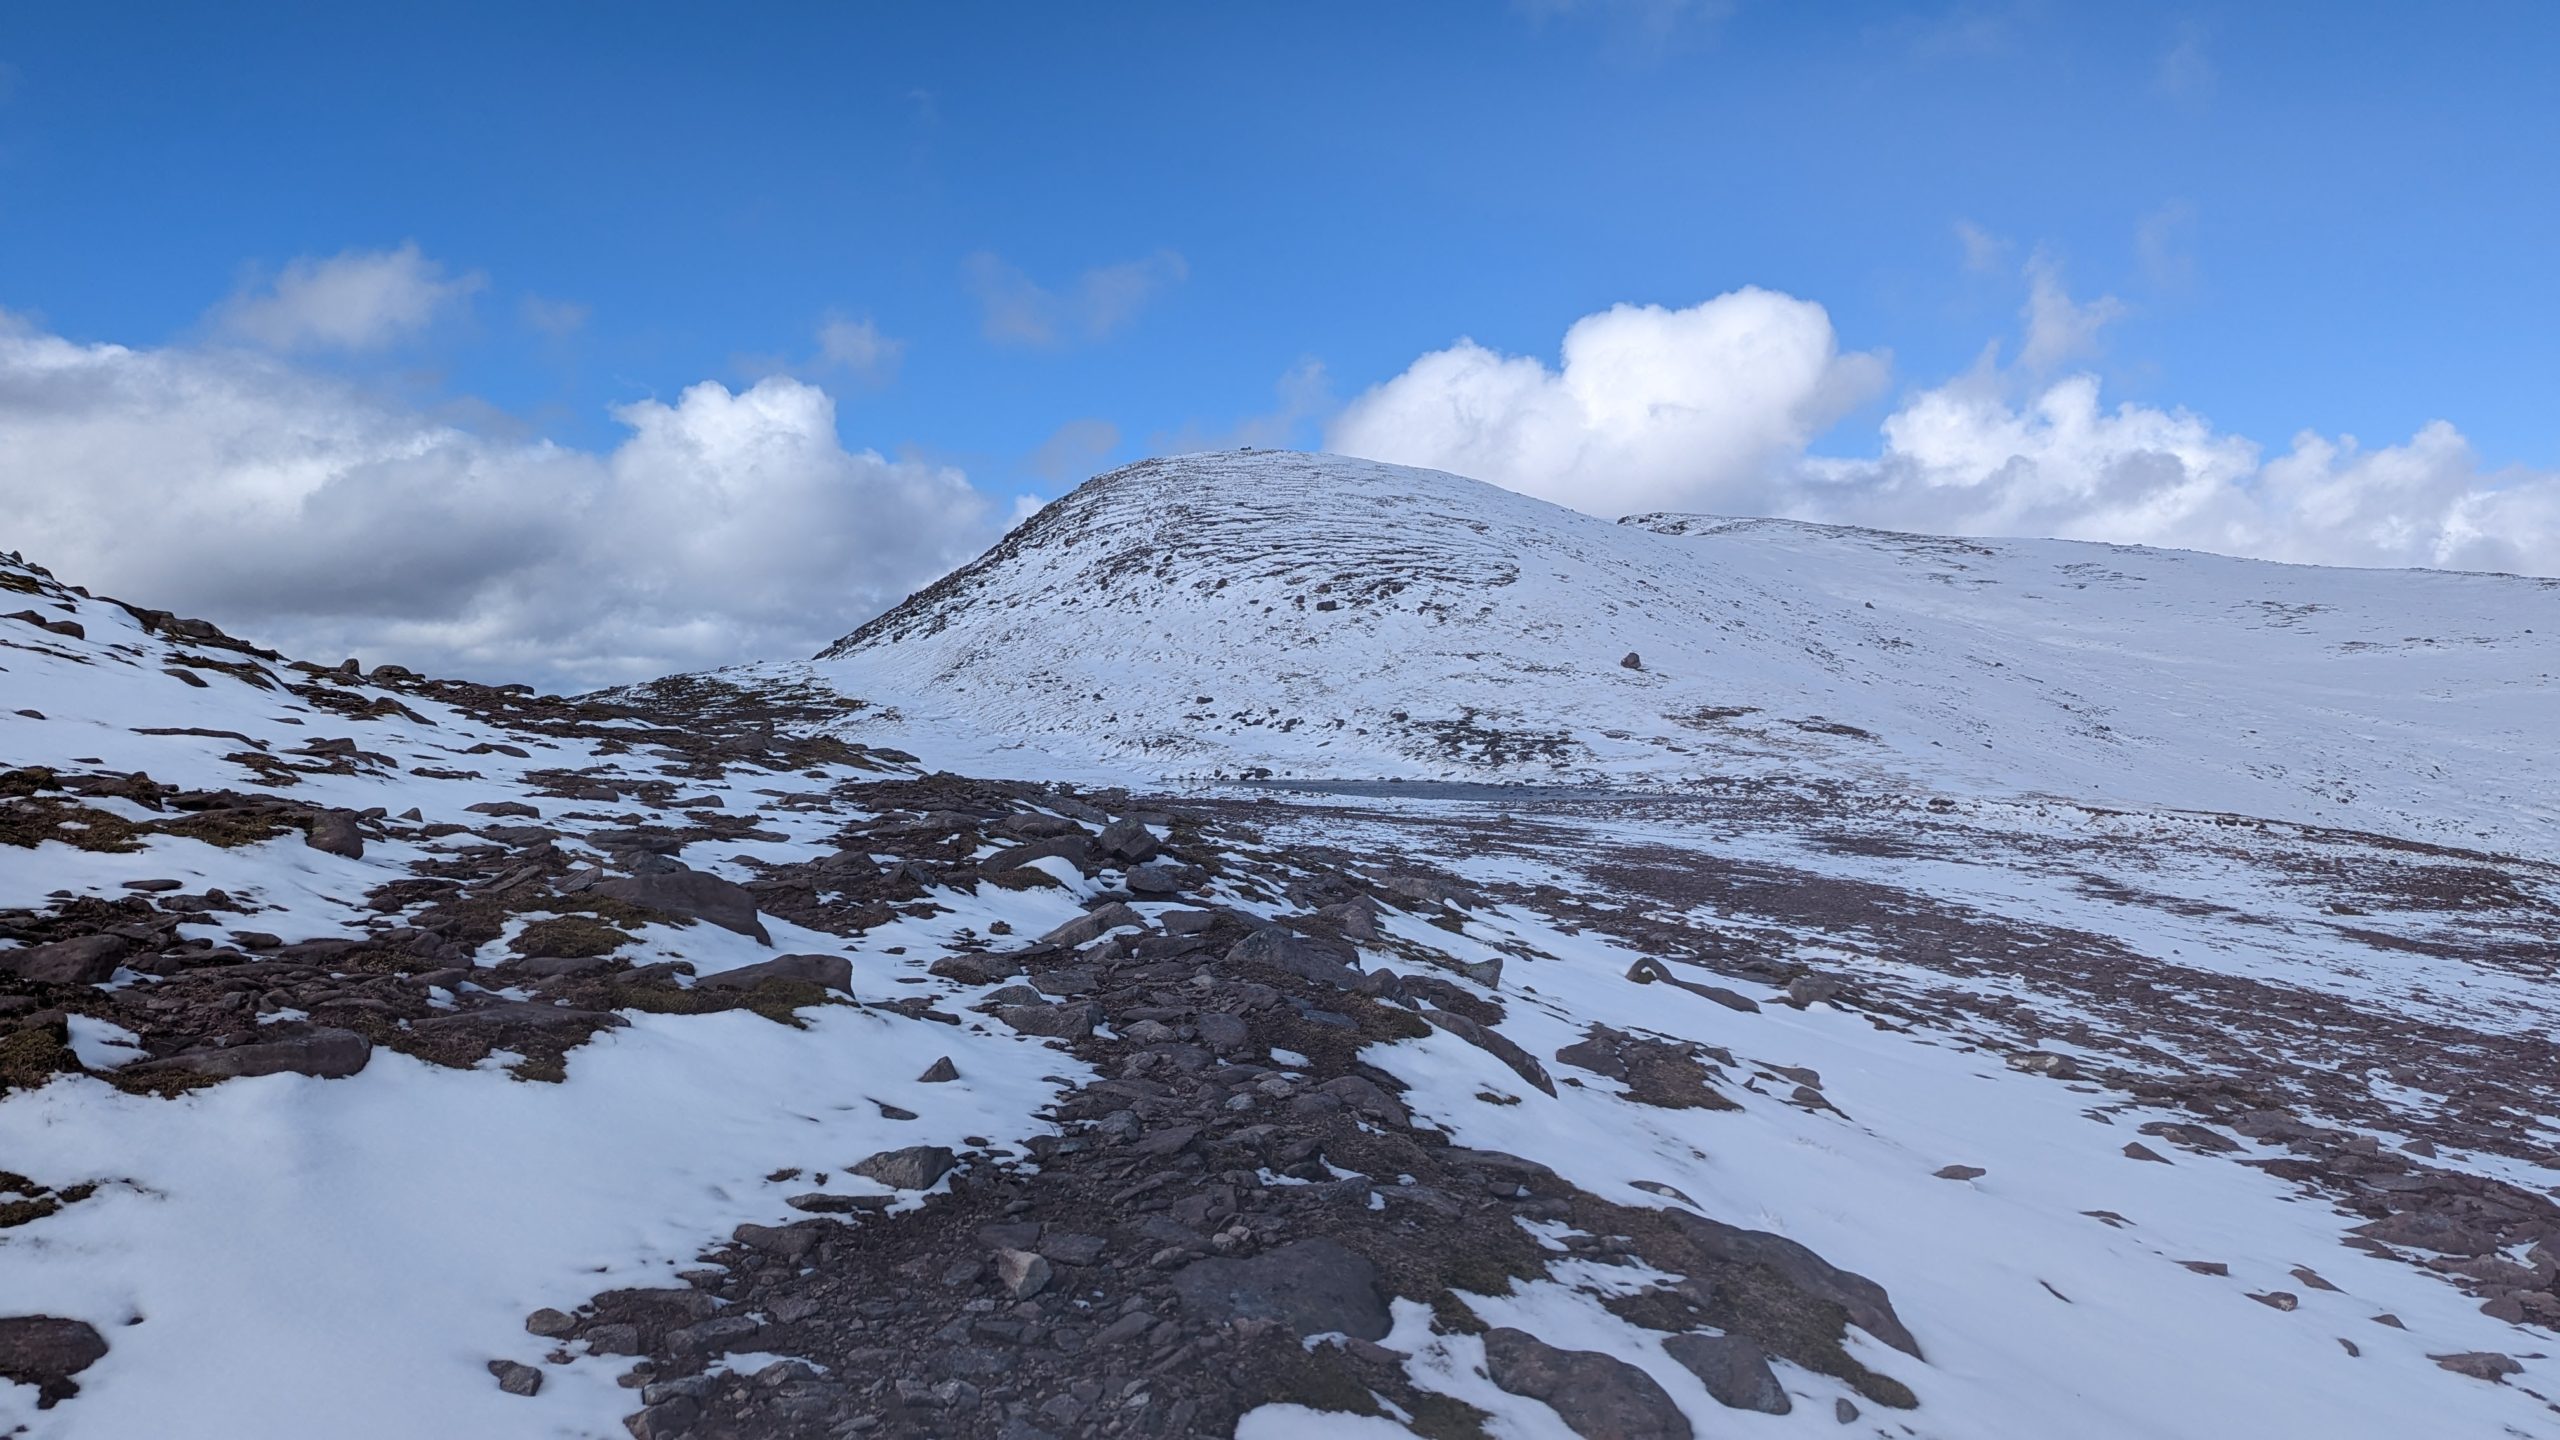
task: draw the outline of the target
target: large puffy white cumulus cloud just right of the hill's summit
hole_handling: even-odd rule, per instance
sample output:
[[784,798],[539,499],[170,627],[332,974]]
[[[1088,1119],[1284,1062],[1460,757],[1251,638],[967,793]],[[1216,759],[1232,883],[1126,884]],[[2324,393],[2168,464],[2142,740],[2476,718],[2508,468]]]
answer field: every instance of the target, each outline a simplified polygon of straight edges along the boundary
[[1585,315],[1559,369],[1475,341],[1431,351],[1344,407],[1326,443],[1595,515],[1748,507],[1884,374],[1882,356],[1841,351],[1820,305],[1751,287]]

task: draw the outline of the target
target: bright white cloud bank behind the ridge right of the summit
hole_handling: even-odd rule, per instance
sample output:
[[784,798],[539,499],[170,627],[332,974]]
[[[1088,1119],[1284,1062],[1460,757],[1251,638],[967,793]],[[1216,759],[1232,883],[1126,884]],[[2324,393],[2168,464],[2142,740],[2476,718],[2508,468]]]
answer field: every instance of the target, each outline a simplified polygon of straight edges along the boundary
[[2486,469],[2445,420],[2368,448],[2284,454],[2189,410],[2104,405],[2089,359],[2122,307],[2028,261],[2017,361],[1994,343],[1905,397],[1864,459],[1810,454],[1884,389],[1876,354],[1769,290],[1687,310],[1615,305],[1562,364],[1475,341],[1352,400],[1326,448],[1446,469],[1592,515],[1702,510],[1953,536],[2176,546],[2299,564],[2560,574],[2560,474]]

